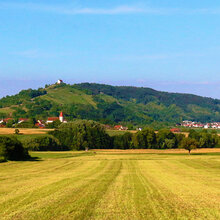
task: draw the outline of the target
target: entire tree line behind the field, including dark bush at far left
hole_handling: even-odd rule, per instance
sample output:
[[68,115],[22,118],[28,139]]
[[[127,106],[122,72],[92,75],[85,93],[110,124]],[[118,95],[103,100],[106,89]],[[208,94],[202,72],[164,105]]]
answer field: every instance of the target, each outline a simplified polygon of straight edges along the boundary
[[[19,134],[16,129],[15,134]],[[86,149],[174,149],[210,148],[219,146],[219,136],[207,131],[190,131],[189,137],[174,134],[168,129],[157,133],[151,128],[135,134],[110,136],[104,127],[94,121],[76,120],[61,124],[50,135],[26,139],[21,143],[16,137],[0,136],[0,159],[25,160],[31,151],[64,151]]]

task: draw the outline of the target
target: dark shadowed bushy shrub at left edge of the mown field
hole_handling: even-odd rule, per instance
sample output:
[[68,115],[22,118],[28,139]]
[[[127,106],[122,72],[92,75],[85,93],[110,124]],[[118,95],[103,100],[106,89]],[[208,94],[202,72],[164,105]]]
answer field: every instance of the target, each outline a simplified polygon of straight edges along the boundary
[[0,137],[0,157],[4,160],[26,160],[30,156],[22,143],[15,137]]

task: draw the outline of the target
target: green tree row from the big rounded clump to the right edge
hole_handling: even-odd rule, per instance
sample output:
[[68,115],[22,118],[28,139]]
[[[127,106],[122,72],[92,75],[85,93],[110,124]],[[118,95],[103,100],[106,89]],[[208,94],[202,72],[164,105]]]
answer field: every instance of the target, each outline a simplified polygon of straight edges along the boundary
[[[51,134],[60,143],[72,150],[89,149],[173,149],[183,147],[208,148],[219,145],[217,134],[207,131],[192,131],[186,138],[183,134],[174,134],[168,129],[161,129],[157,133],[146,128],[135,134],[127,132],[123,135],[109,136],[105,129],[97,122],[76,120],[62,124]],[[190,147],[189,147],[190,146]],[[190,150],[189,150],[190,152]]]

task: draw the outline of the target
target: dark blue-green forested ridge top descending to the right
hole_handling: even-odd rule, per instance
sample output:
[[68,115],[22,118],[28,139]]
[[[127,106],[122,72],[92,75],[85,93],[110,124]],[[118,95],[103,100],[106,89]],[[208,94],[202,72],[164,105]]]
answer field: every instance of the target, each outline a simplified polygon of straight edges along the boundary
[[110,86],[96,83],[81,83],[77,87],[86,89],[94,95],[104,93],[127,101],[135,99],[136,103],[147,104],[149,102],[157,102],[165,106],[174,104],[185,110],[188,108],[188,105],[198,105],[204,108],[211,108],[214,111],[220,110],[220,100],[192,94],[160,92],[143,87]]

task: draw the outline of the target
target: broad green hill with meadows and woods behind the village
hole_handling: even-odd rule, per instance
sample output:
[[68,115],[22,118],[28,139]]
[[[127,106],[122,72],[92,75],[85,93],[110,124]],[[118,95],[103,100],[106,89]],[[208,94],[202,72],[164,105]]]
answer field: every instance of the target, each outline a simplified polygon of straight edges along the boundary
[[0,99],[0,117],[47,118],[58,116],[60,111],[69,120],[171,125],[182,120],[220,121],[220,100],[95,83],[51,85]]

